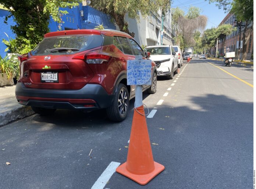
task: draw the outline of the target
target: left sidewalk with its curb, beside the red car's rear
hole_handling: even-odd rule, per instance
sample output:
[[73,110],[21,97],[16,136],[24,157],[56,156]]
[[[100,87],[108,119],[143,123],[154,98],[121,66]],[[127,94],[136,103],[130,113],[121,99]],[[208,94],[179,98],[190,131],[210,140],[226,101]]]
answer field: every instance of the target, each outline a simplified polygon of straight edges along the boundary
[[32,114],[31,107],[18,104],[15,85],[0,87],[0,126]]

